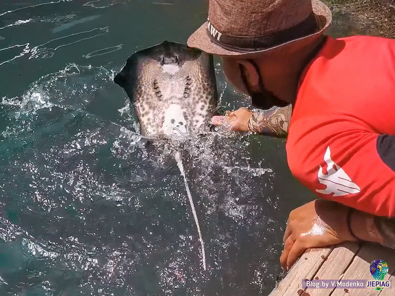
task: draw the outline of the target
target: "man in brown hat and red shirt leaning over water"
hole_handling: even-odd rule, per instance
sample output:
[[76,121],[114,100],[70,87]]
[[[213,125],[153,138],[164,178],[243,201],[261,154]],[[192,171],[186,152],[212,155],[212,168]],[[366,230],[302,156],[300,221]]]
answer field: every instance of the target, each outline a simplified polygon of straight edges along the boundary
[[220,56],[229,82],[266,110],[213,122],[288,132],[289,168],[319,197],[289,215],[285,270],[308,248],[395,248],[395,40],[326,37],[331,18],[318,0],[209,0],[207,22],[188,39]]

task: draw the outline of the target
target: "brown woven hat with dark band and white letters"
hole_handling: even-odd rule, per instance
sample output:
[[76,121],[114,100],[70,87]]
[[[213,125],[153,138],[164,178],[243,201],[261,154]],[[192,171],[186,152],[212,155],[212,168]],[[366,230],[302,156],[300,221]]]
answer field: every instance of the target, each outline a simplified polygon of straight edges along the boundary
[[331,22],[329,7],[319,0],[209,0],[207,21],[187,43],[214,55],[251,58],[311,42]]

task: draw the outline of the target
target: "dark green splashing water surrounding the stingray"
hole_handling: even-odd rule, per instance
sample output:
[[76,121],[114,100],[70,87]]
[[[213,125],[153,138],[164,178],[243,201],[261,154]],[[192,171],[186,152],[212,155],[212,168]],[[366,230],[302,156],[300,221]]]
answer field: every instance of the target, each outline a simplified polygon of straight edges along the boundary
[[[142,148],[112,81],[136,50],[185,43],[206,11],[201,0],[1,1],[1,296],[253,296],[275,287],[288,213],[313,198],[290,175],[284,140],[191,148],[204,271],[177,166]],[[339,24],[331,34],[344,35]],[[216,70],[221,106],[248,106],[218,60]]]

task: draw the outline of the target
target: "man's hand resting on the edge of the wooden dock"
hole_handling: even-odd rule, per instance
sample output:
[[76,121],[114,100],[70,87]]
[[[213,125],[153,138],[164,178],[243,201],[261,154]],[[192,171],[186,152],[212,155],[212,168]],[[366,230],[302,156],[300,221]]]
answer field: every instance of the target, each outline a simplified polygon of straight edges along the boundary
[[[280,257],[282,268],[289,270],[309,248],[356,241],[348,231],[347,210],[342,204],[323,199],[293,210],[289,214],[283,237],[284,250]],[[358,236],[358,232],[354,232]]]

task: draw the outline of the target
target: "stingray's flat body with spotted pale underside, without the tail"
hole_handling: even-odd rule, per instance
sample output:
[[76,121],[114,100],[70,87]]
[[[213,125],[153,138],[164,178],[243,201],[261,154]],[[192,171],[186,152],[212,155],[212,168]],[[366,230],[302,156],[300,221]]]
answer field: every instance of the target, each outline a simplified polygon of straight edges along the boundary
[[212,55],[164,41],[138,51],[114,81],[134,105],[146,137],[185,137],[210,127],[217,114]]

